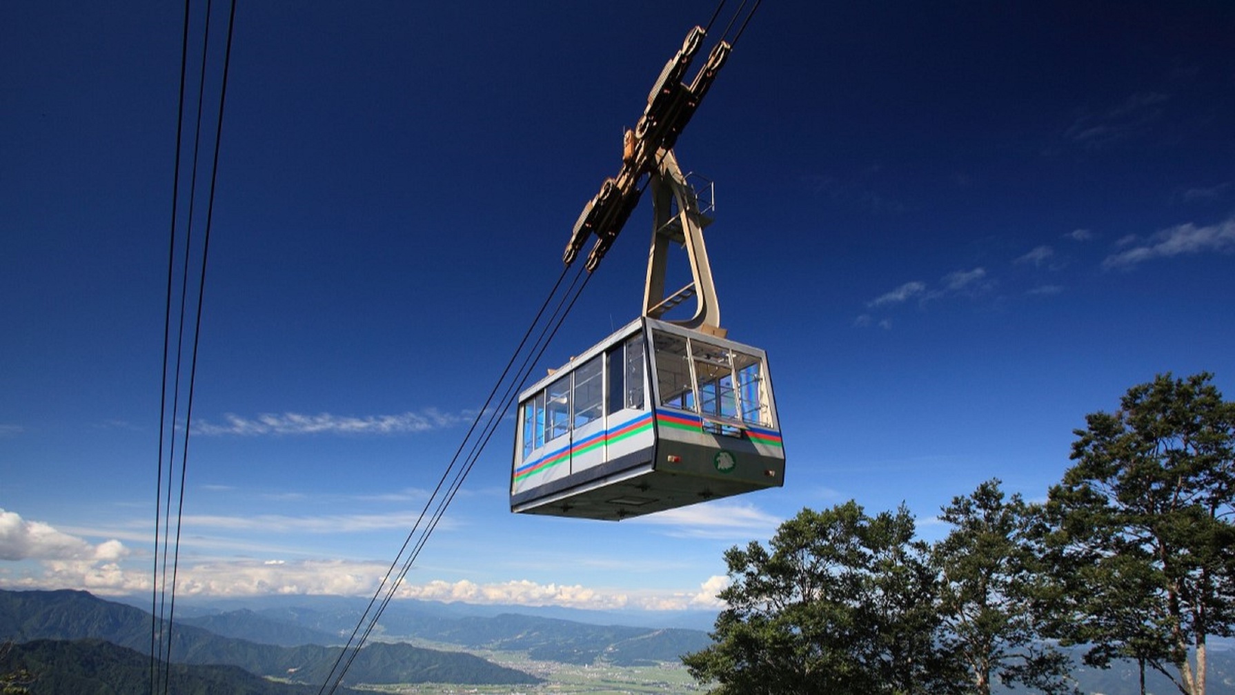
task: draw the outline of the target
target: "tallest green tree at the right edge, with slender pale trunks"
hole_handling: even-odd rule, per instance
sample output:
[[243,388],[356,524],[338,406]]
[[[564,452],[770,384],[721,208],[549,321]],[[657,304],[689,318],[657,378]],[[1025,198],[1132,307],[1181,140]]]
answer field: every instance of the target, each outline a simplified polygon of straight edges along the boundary
[[1212,378],[1158,375],[1088,415],[1046,506],[1060,635],[1184,695],[1205,693],[1208,637],[1235,628],[1235,404]]

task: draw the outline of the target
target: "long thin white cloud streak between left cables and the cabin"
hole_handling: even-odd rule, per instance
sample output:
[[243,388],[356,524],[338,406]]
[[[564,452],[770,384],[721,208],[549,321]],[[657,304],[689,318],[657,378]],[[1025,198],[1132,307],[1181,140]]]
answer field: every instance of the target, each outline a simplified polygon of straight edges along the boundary
[[299,412],[266,412],[256,417],[226,414],[222,425],[198,421],[198,435],[405,435],[451,427],[463,421],[464,415],[442,414],[433,409],[400,415],[367,415],[363,417],[331,415],[304,415]]

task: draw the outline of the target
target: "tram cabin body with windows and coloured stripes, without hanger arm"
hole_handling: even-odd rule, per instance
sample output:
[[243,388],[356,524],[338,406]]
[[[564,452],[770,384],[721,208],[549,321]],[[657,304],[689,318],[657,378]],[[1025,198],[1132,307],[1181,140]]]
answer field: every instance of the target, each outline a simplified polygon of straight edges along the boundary
[[638,318],[519,397],[511,511],[621,520],[784,483],[763,351]]

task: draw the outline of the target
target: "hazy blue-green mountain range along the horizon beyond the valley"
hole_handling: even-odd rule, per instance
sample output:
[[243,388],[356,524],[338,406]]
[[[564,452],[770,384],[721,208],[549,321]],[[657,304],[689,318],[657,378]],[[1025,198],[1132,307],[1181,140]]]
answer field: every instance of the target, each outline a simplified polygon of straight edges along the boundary
[[[228,601],[184,609],[185,617],[177,617],[172,632],[173,660],[188,665],[173,667],[173,678],[185,680],[182,688],[173,686],[172,691],[300,695],[306,691],[258,676],[324,683],[338,657],[340,644],[352,635],[368,601],[296,599],[299,602],[291,599],[264,604]],[[517,685],[540,681],[524,672],[467,653],[424,649],[395,639],[521,652],[546,662],[611,665],[676,663],[680,654],[710,643],[708,633],[698,630],[588,625],[542,616],[492,615],[493,609],[462,606],[426,601],[390,604],[373,639],[348,670],[346,683]],[[179,605],[177,612],[182,614]],[[85,680],[69,680],[93,678],[86,675],[90,669],[114,678],[127,674],[115,683],[127,684],[136,678],[138,684],[144,684],[149,631],[148,612],[84,591],[0,591],[0,642],[19,642],[7,654],[0,655],[0,673],[17,668],[56,673],[54,681],[64,684],[36,693],[100,691],[82,686],[88,683]],[[193,664],[228,664],[230,668]],[[1116,664],[1109,670],[1078,667],[1074,676],[1084,693],[1136,691],[1136,672],[1131,664]],[[220,679],[227,683],[226,688],[217,686]],[[1235,695],[1235,649],[1229,642],[1213,641],[1207,680],[1209,695]],[[1152,695],[1178,693],[1156,673],[1147,674],[1147,683]],[[312,685],[312,691],[316,688]],[[116,691],[130,693],[126,689]]]

